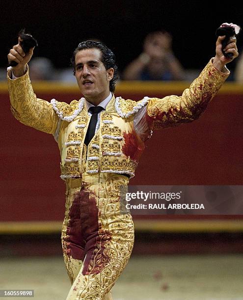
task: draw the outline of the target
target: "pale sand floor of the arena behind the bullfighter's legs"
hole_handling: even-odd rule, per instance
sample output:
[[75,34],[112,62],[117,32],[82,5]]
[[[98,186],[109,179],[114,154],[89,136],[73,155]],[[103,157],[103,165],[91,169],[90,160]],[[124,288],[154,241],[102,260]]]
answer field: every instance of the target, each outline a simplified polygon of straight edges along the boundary
[[[34,298],[28,299],[65,300],[70,287],[60,256],[0,259],[0,289],[33,289]],[[134,255],[112,295],[114,300],[243,300],[243,255]]]

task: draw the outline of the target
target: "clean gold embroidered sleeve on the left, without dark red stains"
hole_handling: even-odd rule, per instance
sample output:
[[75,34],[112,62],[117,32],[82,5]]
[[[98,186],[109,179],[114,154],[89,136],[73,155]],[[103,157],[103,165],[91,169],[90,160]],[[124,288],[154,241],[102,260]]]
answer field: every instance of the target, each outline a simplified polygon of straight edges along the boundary
[[17,79],[8,76],[11,111],[21,123],[40,131],[54,134],[58,117],[50,102],[36,98],[28,71]]

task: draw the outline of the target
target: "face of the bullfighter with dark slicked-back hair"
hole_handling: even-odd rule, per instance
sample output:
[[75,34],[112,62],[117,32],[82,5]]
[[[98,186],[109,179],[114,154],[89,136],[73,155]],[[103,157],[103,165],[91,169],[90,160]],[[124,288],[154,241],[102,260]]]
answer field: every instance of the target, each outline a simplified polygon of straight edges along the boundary
[[99,104],[109,95],[109,81],[114,69],[106,70],[100,60],[101,51],[97,48],[83,49],[75,57],[75,77],[86,100]]

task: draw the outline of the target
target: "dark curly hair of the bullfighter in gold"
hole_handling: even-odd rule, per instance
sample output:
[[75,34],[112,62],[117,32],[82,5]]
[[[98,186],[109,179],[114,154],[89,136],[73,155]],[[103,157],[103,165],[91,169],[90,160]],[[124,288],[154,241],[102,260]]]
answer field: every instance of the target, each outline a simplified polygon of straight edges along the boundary
[[115,54],[103,43],[97,42],[97,41],[84,41],[79,44],[79,46],[74,50],[73,56],[71,57],[71,64],[74,68],[74,75],[75,75],[75,56],[77,52],[83,49],[92,49],[92,48],[97,48],[101,51],[101,61],[103,62],[106,70],[109,68],[114,69],[114,75],[113,78],[109,82],[109,90],[110,92],[115,91],[115,85],[116,81],[118,80],[118,71],[117,71],[117,66],[115,64]]

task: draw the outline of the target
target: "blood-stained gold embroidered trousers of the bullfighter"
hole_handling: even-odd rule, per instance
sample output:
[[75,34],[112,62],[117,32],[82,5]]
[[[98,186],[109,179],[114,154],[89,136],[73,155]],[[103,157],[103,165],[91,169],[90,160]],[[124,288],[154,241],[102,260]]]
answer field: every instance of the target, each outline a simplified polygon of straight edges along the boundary
[[134,245],[132,216],[121,209],[120,174],[66,179],[62,248],[72,287],[67,300],[108,300]]

